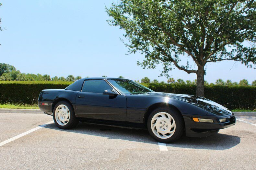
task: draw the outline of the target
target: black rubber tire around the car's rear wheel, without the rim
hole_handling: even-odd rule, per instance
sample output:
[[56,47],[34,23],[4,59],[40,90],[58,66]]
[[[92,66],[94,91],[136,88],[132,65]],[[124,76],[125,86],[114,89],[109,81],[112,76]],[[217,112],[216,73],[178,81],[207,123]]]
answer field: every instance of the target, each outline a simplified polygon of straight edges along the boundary
[[[68,123],[66,125],[58,124],[57,120],[55,118],[55,110],[57,109],[57,107],[59,105],[65,105],[65,106],[68,107],[70,117],[69,117],[69,121],[68,121]],[[75,112],[74,112],[73,106],[70,103],[66,102],[66,101],[60,101],[60,102],[58,102],[54,106],[54,109],[53,109],[53,121],[54,121],[55,125],[58,126],[60,129],[70,129],[70,128],[76,127],[76,125],[79,122],[79,120],[75,116]]]

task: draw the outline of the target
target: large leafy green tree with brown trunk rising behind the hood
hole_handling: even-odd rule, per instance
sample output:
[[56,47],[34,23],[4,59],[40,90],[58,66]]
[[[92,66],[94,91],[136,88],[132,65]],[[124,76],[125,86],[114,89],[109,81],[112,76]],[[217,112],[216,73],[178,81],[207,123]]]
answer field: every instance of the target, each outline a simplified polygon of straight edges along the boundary
[[196,74],[197,96],[204,96],[207,63],[256,64],[253,0],[120,0],[106,11],[112,17],[108,23],[125,31],[129,53],[145,55],[138,65],[163,63],[166,77],[173,66]]

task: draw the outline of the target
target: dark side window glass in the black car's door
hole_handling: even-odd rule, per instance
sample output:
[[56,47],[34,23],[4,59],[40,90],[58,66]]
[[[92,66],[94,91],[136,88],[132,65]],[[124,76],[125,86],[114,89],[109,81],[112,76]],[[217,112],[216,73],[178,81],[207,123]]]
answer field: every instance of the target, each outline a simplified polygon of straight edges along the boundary
[[103,93],[104,90],[112,90],[113,88],[104,80],[85,80],[82,92]]

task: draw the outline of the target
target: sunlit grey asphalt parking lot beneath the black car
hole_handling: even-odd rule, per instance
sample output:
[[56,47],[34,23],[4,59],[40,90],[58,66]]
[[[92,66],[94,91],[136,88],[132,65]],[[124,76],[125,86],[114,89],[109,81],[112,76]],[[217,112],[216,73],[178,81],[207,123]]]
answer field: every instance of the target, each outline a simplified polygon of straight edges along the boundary
[[214,136],[165,145],[142,129],[79,123],[61,130],[45,114],[0,115],[0,169],[256,168],[256,117],[237,117]]

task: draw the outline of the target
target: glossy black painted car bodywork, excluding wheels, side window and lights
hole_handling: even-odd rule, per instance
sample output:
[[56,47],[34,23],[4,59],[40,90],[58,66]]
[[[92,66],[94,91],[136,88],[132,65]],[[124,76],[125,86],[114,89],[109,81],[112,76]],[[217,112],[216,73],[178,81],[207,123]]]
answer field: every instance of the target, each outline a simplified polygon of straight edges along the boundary
[[[160,92],[123,93],[111,85],[108,80],[118,78],[86,78],[80,79],[66,89],[42,90],[39,108],[52,115],[54,105],[61,101],[69,101],[76,116],[81,121],[108,125],[146,127],[148,112],[155,107],[174,107],[182,114],[187,136],[207,136],[219,129],[234,125],[236,119],[231,111],[211,100],[193,95],[169,94]],[[111,89],[105,93],[82,92],[85,80],[104,80]],[[126,79],[122,79],[126,80]],[[112,90],[114,89],[114,90]],[[110,94],[110,91],[116,93]],[[48,105],[42,105],[47,103]],[[192,117],[211,118],[214,123],[194,122]],[[218,119],[227,118],[228,122],[220,123]]]

